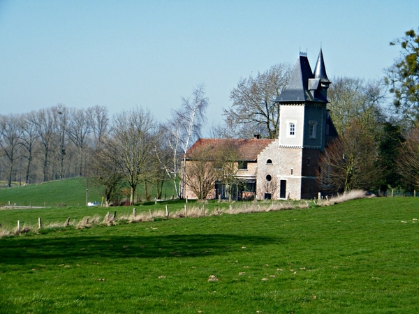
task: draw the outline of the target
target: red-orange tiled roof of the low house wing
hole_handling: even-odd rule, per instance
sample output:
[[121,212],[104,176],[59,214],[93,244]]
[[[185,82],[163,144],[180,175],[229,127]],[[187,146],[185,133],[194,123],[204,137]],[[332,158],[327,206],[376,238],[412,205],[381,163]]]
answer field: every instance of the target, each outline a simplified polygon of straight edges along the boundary
[[274,140],[266,139],[216,139],[200,138],[186,152],[186,159],[191,160],[193,151],[209,148],[210,151],[217,151],[228,145],[237,147],[237,160],[256,161],[258,154]]

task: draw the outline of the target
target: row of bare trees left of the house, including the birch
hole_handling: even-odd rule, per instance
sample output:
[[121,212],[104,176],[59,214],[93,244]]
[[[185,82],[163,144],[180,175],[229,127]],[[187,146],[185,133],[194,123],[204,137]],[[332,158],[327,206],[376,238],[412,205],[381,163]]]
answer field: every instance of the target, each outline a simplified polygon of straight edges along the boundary
[[106,204],[120,199],[123,190],[133,204],[140,184],[147,200],[153,190],[161,198],[163,182],[172,180],[176,197],[183,197],[181,157],[200,136],[207,104],[200,85],[165,123],[140,107],[109,117],[99,105],[58,104],[0,115],[0,179],[10,187],[91,177],[103,188]]

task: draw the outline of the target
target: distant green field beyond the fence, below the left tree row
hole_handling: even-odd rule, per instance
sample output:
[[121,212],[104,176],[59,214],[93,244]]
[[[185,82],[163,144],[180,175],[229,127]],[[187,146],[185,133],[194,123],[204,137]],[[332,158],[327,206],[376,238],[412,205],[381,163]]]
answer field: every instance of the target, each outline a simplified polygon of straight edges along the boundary
[[[85,178],[66,179],[62,181],[50,181],[43,184],[30,184],[28,186],[14,186],[12,188],[0,188],[0,205],[17,204],[20,206],[84,206],[86,204]],[[101,189],[91,183],[89,187],[89,202],[101,202]],[[163,187],[163,196],[173,194],[172,182],[167,181]],[[143,187],[138,186],[138,197],[143,197]],[[154,197],[154,196],[153,196]]]

